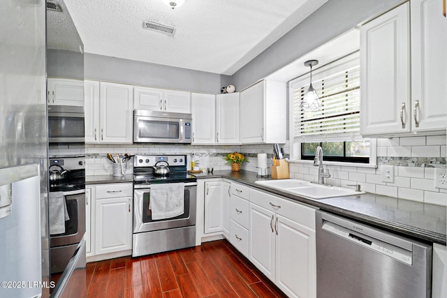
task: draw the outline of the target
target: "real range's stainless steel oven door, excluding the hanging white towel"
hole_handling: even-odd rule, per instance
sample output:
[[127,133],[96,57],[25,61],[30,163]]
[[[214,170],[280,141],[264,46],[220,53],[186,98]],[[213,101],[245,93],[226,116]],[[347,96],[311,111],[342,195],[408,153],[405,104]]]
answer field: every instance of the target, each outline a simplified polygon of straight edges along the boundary
[[184,184],[184,213],[173,218],[153,220],[151,217],[150,185],[133,191],[133,232],[150,232],[196,225],[197,182]]

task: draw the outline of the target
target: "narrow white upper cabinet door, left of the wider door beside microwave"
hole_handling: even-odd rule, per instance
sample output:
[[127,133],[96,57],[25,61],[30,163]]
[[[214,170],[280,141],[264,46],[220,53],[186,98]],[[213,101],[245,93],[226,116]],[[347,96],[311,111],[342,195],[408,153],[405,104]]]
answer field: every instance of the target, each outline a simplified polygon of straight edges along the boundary
[[99,82],[85,80],[85,142],[99,142]]

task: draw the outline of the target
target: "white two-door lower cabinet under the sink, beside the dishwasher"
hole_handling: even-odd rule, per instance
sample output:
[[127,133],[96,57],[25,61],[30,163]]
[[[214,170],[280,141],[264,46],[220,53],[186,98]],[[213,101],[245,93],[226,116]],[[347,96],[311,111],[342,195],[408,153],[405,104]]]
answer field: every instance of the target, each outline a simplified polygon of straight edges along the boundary
[[249,260],[288,297],[316,297],[315,209],[250,188]]

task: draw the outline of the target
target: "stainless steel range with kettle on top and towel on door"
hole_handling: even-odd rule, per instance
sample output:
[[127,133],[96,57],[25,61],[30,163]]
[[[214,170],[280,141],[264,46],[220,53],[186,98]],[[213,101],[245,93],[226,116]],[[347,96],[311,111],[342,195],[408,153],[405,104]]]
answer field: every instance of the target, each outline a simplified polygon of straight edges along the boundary
[[133,158],[132,256],[195,246],[197,179],[184,155]]

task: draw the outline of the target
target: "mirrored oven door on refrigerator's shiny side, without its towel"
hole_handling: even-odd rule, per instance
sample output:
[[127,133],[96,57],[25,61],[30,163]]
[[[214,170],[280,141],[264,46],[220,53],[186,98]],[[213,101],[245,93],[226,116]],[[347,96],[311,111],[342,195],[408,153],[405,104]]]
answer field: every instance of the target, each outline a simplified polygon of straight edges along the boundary
[[78,244],[85,234],[85,189],[64,192],[68,216],[65,232],[50,235],[50,246]]

